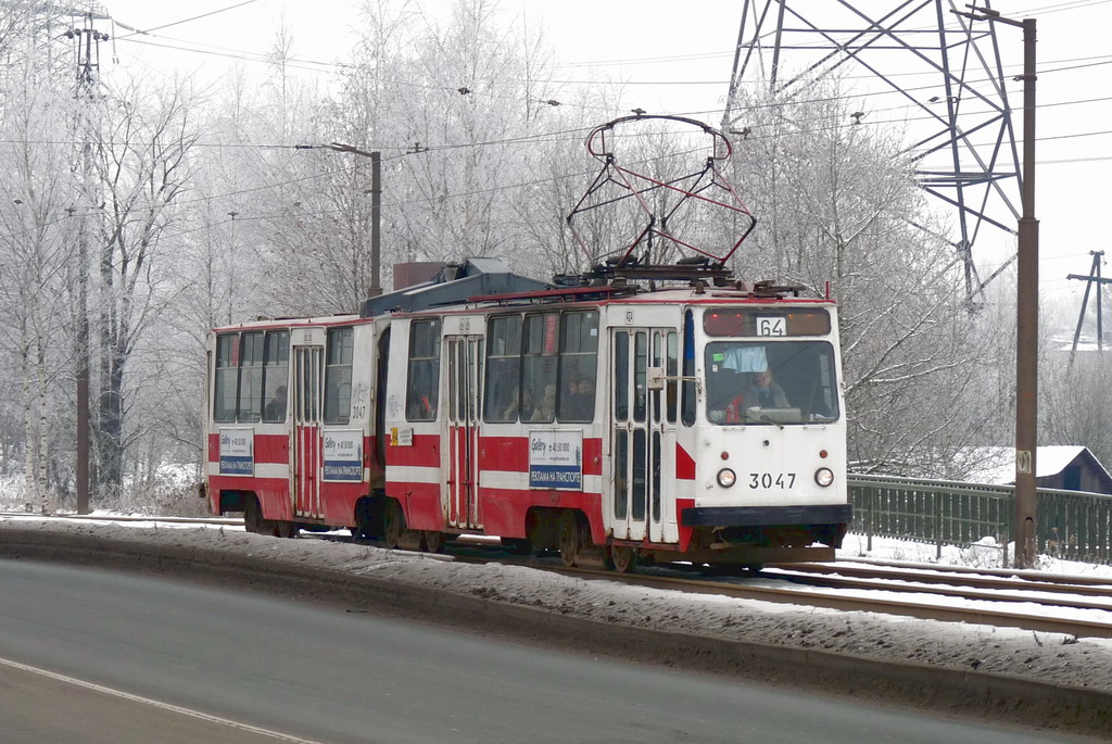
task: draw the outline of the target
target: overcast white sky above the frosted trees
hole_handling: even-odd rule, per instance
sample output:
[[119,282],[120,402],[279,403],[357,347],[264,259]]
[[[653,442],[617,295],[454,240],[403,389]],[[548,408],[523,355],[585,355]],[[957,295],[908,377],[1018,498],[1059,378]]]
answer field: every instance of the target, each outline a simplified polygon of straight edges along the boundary
[[[236,56],[254,58],[270,48],[274,29],[285,17],[294,30],[299,59],[331,62],[341,57],[358,32],[357,0],[193,0],[189,3],[151,0],[102,0],[110,14],[138,29],[157,29],[157,37],[127,40],[116,29],[115,49],[105,49],[106,62],[115,51],[118,65],[155,70],[199,70],[218,77]],[[802,2],[802,0],[801,0]],[[426,0],[433,11],[449,0]],[[526,13],[528,22],[545,24],[549,43],[564,63],[568,80],[585,79],[593,69],[631,83],[627,101],[652,112],[692,113],[713,125],[728,86],[733,49],[744,0],[502,0],[513,18]],[[806,3],[804,3],[806,4]],[[862,7],[895,7],[894,0],[872,0]],[[962,4],[962,3],[959,3]],[[236,7],[239,6],[239,7]],[[1012,18],[1039,18],[1039,173],[1036,216],[1041,221],[1041,285],[1044,292],[1075,297],[1080,306],[1083,284],[1066,274],[1088,274],[1090,250],[1105,249],[1112,171],[1112,0],[1016,0],[996,2]],[[225,10],[226,9],[226,10]],[[221,11],[222,12],[215,12]],[[195,17],[212,13],[206,18]],[[106,29],[107,30],[107,29]],[[997,31],[1005,63],[1022,60],[1022,32]],[[153,43],[186,47],[171,51]],[[207,44],[207,47],[202,47]],[[216,53],[214,53],[216,52]],[[1089,59],[1098,58],[1098,59]],[[1095,62],[1095,65],[1093,65]],[[242,62],[247,68],[254,62]],[[1073,69],[1051,72],[1051,69]],[[327,71],[327,67],[321,66]],[[1017,70],[1016,70],[1017,72]],[[326,73],[321,73],[325,77]],[[652,83],[652,85],[651,85]],[[672,83],[672,85],[666,85]],[[1019,83],[1013,83],[1017,106]],[[890,99],[891,100],[891,99]],[[868,101],[863,106],[867,107]],[[886,106],[877,100],[875,108]],[[602,122],[599,122],[602,123]],[[1016,119],[1019,136],[1019,119]],[[1098,133],[1099,132],[1099,133]],[[744,185],[743,185],[744,188]],[[990,248],[979,242],[982,276],[999,264],[996,256],[1013,251],[1010,239],[999,238]],[[1105,268],[1105,276],[1112,269]]]

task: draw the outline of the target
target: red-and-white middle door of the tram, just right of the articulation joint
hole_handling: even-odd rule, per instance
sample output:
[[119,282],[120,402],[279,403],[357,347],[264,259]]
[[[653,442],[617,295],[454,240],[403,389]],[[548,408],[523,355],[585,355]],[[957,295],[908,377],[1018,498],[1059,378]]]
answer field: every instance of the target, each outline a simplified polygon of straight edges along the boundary
[[479,336],[447,336],[448,524],[483,527],[478,503],[479,411],[484,344]]

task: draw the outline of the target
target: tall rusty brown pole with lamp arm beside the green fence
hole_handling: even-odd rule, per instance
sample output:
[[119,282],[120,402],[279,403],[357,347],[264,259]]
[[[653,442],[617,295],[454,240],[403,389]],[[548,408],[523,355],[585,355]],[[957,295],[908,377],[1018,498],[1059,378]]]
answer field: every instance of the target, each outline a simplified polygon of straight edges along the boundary
[[1035,19],[1016,21],[1000,11],[966,6],[953,11],[974,21],[1023,29],[1023,216],[1019,225],[1015,287],[1015,567],[1034,565],[1035,452],[1039,431],[1039,220],[1035,219]]

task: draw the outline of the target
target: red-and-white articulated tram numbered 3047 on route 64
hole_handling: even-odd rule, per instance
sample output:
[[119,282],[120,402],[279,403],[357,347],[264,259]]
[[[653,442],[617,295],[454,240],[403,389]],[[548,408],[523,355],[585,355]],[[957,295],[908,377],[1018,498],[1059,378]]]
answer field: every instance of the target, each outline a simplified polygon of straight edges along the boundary
[[850,523],[836,309],[788,288],[260,320],[215,329],[208,359],[210,508],[252,532],[496,535],[628,571],[830,559]]

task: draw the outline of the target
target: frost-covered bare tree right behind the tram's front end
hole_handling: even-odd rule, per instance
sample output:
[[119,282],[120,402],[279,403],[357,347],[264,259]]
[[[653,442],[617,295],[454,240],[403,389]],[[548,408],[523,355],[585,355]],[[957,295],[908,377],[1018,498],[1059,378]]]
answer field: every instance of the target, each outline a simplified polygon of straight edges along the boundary
[[935,220],[898,138],[852,123],[837,92],[749,101],[737,180],[761,221],[737,267],[812,296],[830,282],[853,468],[939,474],[997,434],[1007,400],[980,379],[997,335],[969,317],[943,230],[916,227]]

